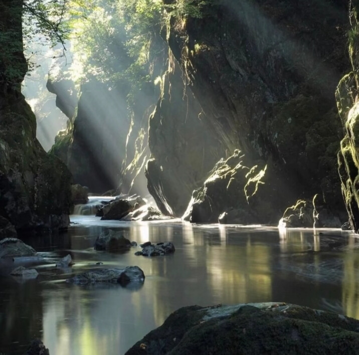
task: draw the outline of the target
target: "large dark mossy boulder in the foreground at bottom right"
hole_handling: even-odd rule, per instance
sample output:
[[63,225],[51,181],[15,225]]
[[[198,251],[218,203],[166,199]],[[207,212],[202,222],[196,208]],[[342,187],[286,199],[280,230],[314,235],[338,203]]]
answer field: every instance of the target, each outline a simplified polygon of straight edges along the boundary
[[126,355],[357,353],[359,321],[286,303],[183,307]]

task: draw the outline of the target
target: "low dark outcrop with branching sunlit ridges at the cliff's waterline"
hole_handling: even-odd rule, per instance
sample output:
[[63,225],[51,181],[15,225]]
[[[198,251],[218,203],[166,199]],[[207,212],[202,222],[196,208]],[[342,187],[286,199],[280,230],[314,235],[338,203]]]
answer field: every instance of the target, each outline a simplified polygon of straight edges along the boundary
[[[249,165],[240,150],[217,162],[195,190],[184,219],[192,223],[277,223],[291,191],[268,165]],[[280,188],[279,188],[280,187]],[[275,204],[273,204],[275,201]]]

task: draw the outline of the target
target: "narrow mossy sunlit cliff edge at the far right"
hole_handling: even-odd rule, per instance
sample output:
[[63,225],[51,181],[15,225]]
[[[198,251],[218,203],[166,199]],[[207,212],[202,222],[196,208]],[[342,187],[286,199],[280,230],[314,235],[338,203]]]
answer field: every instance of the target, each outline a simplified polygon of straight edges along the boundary
[[354,1],[349,31],[349,57],[352,72],[339,82],[335,96],[345,136],[338,152],[338,171],[341,191],[351,227],[359,231],[359,103],[357,69],[359,68],[359,2]]

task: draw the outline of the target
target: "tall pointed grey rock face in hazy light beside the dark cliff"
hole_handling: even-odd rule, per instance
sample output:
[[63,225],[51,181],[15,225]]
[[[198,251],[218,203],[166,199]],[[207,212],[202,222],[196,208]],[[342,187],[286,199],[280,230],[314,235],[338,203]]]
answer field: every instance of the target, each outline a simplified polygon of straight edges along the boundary
[[225,151],[171,53],[161,80],[161,96],[149,118],[147,188],[163,214],[181,216],[193,189]]

